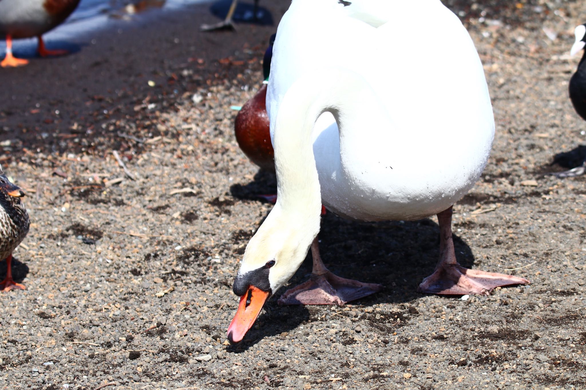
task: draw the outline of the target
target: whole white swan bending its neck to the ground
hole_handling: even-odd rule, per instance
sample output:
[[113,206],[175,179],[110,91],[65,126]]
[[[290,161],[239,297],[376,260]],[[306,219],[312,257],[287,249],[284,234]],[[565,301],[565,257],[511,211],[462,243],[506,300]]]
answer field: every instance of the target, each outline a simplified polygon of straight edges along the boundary
[[481,175],[495,124],[478,53],[440,0],[293,0],[277,29],[267,109],[278,197],[234,280],[229,340],[243,339],[310,247],[310,280],[280,303],[342,305],[380,291],[323,265],[322,203],[355,220],[437,215],[440,259],[421,292],[529,283],[456,261],[452,205]]

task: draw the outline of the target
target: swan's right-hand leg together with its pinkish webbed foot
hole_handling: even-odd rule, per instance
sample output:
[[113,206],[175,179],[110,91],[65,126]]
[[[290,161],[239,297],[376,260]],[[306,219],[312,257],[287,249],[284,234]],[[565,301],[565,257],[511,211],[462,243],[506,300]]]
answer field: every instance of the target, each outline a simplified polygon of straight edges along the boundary
[[423,279],[417,289],[430,294],[488,295],[492,289],[510,284],[529,284],[512,275],[469,270],[458,264],[452,241],[452,208],[438,213],[440,225],[440,261],[433,274]]

